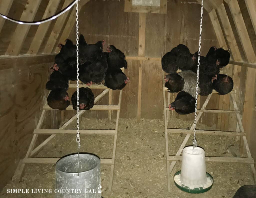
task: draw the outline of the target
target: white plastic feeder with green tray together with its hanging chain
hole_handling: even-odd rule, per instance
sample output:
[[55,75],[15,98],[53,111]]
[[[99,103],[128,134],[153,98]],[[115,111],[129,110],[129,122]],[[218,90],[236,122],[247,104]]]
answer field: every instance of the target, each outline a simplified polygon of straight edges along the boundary
[[175,185],[179,189],[188,193],[206,192],[211,189],[213,184],[212,176],[206,172],[205,151],[204,149],[197,147],[197,140],[196,140],[196,123],[197,123],[196,112],[197,112],[199,66],[200,66],[200,54],[201,54],[200,49],[201,49],[201,37],[202,37],[201,33],[202,33],[203,5],[204,5],[204,0],[202,0],[202,4],[201,4],[193,146],[185,147],[183,149],[181,171],[178,171],[174,175]]

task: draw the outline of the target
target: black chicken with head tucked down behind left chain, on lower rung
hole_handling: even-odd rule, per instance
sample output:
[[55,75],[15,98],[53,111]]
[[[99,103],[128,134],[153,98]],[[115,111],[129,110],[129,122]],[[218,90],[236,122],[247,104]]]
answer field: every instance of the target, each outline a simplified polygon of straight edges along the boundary
[[[77,110],[77,91],[71,97],[72,106]],[[94,105],[94,94],[88,87],[79,88],[79,110],[89,110]]]

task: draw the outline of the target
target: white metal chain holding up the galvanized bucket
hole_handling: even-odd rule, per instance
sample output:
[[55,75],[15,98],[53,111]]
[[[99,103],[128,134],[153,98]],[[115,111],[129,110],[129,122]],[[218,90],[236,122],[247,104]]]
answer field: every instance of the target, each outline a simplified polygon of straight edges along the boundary
[[79,41],[79,33],[78,33],[78,1],[77,1],[77,7],[76,7],[76,22],[77,22],[77,146],[78,146],[78,176],[79,176],[79,150],[80,150],[80,133],[79,133],[79,61],[78,61],[78,41]]

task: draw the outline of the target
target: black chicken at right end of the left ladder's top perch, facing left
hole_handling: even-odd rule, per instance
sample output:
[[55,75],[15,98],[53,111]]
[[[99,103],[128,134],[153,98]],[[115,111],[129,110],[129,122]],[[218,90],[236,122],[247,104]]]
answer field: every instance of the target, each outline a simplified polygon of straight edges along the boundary
[[127,61],[125,60],[124,53],[121,50],[116,49],[115,46],[109,45],[107,48],[108,52],[108,65],[112,68],[122,68],[127,69]]

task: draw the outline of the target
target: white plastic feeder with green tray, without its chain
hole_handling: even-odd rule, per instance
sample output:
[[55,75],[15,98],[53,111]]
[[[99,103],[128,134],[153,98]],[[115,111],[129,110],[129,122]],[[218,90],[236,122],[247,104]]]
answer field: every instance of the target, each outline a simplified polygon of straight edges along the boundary
[[200,147],[196,147],[194,150],[193,146],[183,149],[181,171],[179,172],[174,176],[175,184],[186,188],[190,193],[206,192],[213,184],[212,176],[206,173],[205,151]]

